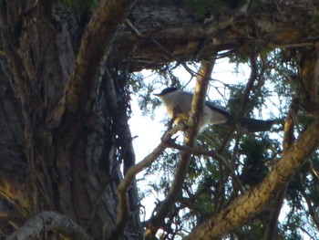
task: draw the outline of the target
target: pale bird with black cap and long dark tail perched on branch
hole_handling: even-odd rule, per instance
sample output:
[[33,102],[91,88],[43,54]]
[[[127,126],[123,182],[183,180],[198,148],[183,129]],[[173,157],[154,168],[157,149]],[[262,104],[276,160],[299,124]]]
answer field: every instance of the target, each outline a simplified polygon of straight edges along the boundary
[[[193,94],[190,92],[177,88],[166,88],[154,95],[164,102],[169,117],[171,119],[175,118],[174,122],[176,124],[189,118],[193,97]],[[200,129],[204,129],[209,124],[224,124],[232,127],[236,120],[234,114],[216,106],[211,101],[205,101],[202,115],[201,122],[199,123]],[[242,118],[238,122],[238,127],[240,130],[247,132],[266,131],[272,128],[274,122],[275,120]]]

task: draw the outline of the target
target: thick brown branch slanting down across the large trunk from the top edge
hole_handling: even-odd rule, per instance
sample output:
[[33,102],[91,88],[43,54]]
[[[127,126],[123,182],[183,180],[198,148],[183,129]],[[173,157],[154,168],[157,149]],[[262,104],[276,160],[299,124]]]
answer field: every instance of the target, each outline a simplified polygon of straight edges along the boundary
[[103,68],[118,27],[129,15],[137,0],[103,0],[91,17],[82,37],[76,63],[67,82],[64,99],[52,115],[54,125],[65,108],[71,112],[90,110],[96,99]]

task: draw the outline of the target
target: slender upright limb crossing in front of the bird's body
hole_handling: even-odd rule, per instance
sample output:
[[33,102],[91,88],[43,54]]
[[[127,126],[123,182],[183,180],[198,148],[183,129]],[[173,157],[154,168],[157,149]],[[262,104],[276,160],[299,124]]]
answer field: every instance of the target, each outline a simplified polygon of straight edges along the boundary
[[[199,123],[202,116],[202,109],[205,104],[206,92],[208,89],[209,80],[211,79],[211,71],[214,63],[215,59],[212,57],[210,60],[201,62],[201,68],[196,79],[194,97],[191,102],[190,118],[188,120],[189,129],[186,131],[184,140],[184,144],[188,147],[193,147],[197,138]],[[182,183],[184,182],[189,170],[190,157],[191,153],[189,151],[181,152],[180,162],[178,163],[170,192],[166,196],[165,200],[160,203],[158,212],[149,219],[149,225],[145,232],[146,239],[154,238],[154,235],[158,231],[160,224],[162,224],[164,221],[165,216],[170,211],[171,206],[176,202],[182,188]]]

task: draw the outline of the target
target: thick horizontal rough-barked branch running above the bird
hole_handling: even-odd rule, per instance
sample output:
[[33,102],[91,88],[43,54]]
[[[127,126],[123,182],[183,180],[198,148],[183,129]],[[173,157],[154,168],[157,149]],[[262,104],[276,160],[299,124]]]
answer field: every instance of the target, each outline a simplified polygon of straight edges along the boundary
[[[156,3],[152,5],[149,2]],[[312,3],[317,5],[318,1],[314,0]],[[160,6],[157,7],[156,14],[154,5]],[[284,15],[273,5],[273,1],[262,1],[261,5],[243,15],[234,16],[231,11],[218,21],[202,24],[201,21],[194,23],[194,16],[186,7],[167,6],[162,1],[139,1],[132,11],[130,22],[143,38],[136,37],[135,30],[121,29],[115,39],[117,51],[110,57],[126,64],[132,58],[128,57],[129,49],[139,44],[134,52],[131,68],[140,70],[158,69],[176,58],[201,60],[207,53],[232,51],[242,47],[243,43],[249,43],[245,47],[314,47],[319,39],[319,35],[312,31],[313,26],[317,26],[317,14],[309,8],[309,1],[292,1],[289,5],[282,1],[278,5],[284,9]],[[295,18],[301,19],[303,26],[300,26],[299,21],[293,21]],[[156,44],[152,39],[156,39],[161,47],[154,47]],[[205,46],[204,50],[201,50],[202,44]]]

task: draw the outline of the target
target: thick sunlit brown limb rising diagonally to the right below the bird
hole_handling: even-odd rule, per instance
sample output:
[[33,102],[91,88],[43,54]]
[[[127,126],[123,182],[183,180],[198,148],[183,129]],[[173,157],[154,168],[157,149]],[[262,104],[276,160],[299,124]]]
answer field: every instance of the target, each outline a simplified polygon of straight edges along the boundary
[[307,161],[319,142],[319,120],[314,120],[300,134],[289,151],[274,164],[273,170],[252,191],[236,198],[219,214],[194,229],[185,239],[216,239],[226,235],[258,214],[272,200],[290,177]]

